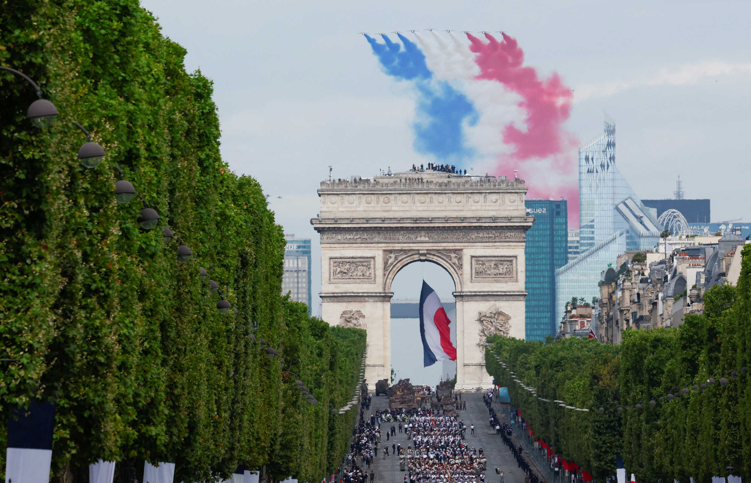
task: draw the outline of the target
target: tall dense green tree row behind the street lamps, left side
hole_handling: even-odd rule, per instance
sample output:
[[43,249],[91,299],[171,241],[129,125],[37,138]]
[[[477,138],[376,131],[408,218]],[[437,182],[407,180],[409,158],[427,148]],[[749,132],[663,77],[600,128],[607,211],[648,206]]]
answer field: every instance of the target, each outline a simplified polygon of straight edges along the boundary
[[[0,73],[0,359],[17,359],[0,362],[0,417],[53,401],[61,476],[101,458],[174,461],[175,481],[240,464],[320,480],[348,449],[354,411],[330,410],[351,397],[365,334],[280,295],[282,229],[258,182],[222,161],[212,83],[185,72],[184,55],[137,0],[0,10],[0,62],[60,112],[47,130],[32,127],[34,92]],[[95,169],[76,159],[73,121],[107,152]],[[140,228],[137,199],[116,203],[114,166],[192,248],[189,262],[161,225]]]

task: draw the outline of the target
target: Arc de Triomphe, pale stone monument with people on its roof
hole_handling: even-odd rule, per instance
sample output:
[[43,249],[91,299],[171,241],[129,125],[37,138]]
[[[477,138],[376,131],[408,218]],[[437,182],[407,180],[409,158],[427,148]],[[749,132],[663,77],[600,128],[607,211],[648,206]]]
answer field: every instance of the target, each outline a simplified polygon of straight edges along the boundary
[[524,338],[525,193],[522,180],[433,171],[321,182],[321,317],[366,329],[370,389],[391,378],[391,282],[419,260],[454,279],[457,389],[490,386],[485,338]]

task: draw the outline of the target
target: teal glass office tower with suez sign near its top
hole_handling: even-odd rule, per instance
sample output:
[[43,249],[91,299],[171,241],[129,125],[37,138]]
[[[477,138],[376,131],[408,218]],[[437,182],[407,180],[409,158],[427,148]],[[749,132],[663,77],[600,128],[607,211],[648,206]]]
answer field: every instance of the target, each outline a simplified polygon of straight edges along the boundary
[[526,232],[527,341],[544,341],[556,335],[556,269],[569,258],[569,217],[566,200],[527,199],[526,213],[535,217]]

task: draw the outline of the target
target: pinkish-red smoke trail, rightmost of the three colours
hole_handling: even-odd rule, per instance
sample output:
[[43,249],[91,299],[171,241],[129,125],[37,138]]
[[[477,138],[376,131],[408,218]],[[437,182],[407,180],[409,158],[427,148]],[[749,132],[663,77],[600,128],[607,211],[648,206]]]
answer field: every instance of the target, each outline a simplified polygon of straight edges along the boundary
[[487,43],[466,35],[480,67],[477,78],[494,80],[516,92],[523,99],[519,106],[526,112],[526,130],[514,124],[503,129],[503,142],[514,146],[514,152],[501,156],[496,174],[511,175],[518,169],[520,178],[529,181],[529,198],[564,196],[569,202],[569,226],[578,227],[578,181],[571,155],[578,141],[563,129],[571,114],[572,90],[556,73],[541,80],[534,68],[523,67],[524,52],[508,35],[502,34],[503,41],[499,42],[485,34]]

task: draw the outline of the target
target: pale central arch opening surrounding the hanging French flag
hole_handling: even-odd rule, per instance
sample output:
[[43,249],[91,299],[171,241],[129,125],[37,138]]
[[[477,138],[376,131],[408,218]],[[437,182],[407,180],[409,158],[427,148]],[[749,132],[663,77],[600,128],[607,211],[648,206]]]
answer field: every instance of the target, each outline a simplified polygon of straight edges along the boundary
[[451,341],[457,346],[456,290],[454,277],[442,264],[433,260],[403,263],[388,283],[391,299],[391,368],[394,383],[409,378],[412,384],[436,386],[457,373],[454,361],[439,361],[425,368],[420,335],[419,302],[422,281],[426,281],[441,299],[451,320]]

